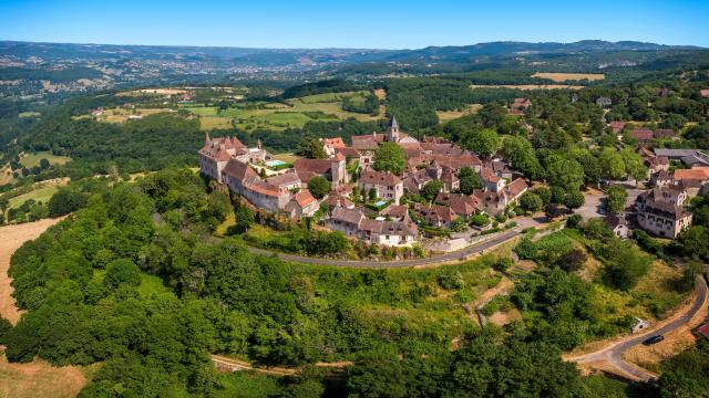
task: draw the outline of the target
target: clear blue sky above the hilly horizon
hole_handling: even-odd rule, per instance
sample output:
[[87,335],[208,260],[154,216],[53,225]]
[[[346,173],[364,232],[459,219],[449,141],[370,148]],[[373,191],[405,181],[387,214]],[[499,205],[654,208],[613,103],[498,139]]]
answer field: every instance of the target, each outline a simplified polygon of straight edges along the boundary
[[709,0],[0,0],[0,40],[415,49],[487,41],[709,46]]

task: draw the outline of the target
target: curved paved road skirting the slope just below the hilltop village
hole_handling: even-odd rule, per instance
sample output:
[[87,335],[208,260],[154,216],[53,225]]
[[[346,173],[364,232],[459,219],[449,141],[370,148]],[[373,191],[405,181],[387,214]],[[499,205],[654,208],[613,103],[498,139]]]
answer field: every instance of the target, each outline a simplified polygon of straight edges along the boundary
[[434,255],[425,259],[411,259],[411,260],[401,260],[401,261],[350,261],[350,260],[335,260],[335,259],[318,259],[318,258],[308,258],[295,254],[287,254],[280,252],[274,252],[270,250],[258,249],[254,247],[248,247],[248,250],[251,253],[270,255],[276,254],[280,260],[284,261],[292,261],[300,262],[307,264],[319,264],[319,265],[336,265],[336,266],[350,266],[350,268],[403,268],[403,266],[415,266],[415,265],[430,265],[440,262],[448,262],[453,260],[464,260],[472,254],[480,253],[483,250],[490,249],[496,244],[505,242],[517,234],[522,233],[518,228],[514,228],[507,232],[502,233],[499,237],[495,237],[489,241],[470,245],[465,249]]

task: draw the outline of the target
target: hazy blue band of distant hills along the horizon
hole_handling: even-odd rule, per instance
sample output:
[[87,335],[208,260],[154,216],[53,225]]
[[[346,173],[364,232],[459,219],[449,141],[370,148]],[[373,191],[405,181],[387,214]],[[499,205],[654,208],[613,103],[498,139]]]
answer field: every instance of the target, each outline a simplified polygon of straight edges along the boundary
[[460,46],[428,46],[417,50],[362,49],[248,49],[226,46],[65,44],[0,41],[0,55],[38,56],[43,60],[212,60],[255,66],[292,63],[337,62],[460,62],[476,56],[515,54],[574,54],[616,51],[701,50],[691,45],[664,45],[635,41],[606,42],[583,40],[574,43],[490,42]]

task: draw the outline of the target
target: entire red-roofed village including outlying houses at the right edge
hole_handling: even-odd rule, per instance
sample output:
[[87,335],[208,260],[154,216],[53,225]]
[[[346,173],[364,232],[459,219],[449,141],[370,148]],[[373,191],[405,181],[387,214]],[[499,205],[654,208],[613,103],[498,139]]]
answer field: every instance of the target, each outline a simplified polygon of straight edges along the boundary
[[[516,98],[508,112],[524,112],[530,105],[528,100]],[[624,127],[616,122],[607,126],[615,133]],[[649,189],[633,189],[637,193],[630,195],[623,211],[589,210],[586,206],[577,212],[584,217],[605,216],[606,224],[620,238],[628,238],[634,228],[659,238],[677,238],[691,226],[692,214],[684,207],[685,202],[709,187],[709,156],[695,149],[649,150],[644,145],[645,136],[671,137],[672,134],[659,129],[630,130],[638,140],[636,150],[648,168],[647,180],[605,184],[634,188],[641,185]],[[374,169],[377,150],[386,143],[395,144],[405,154],[401,174]],[[520,199],[532,187],[544,186],[526,180],[513,164],[497,154],[481,159],[442,137],[424,136],[419,140],[401,132],[395,117],[386,132],[352,136],[350,145],[339,137],[320,138],[319,145],[326,158],[299,158],[288,165],[276,160],[260,143],[248,148],[236,137],[210,138],[205,134],[199,170],[228,186],[257,209],[291,219],[317,213],[321,226],[383,247],[411,247],[422,237],[448,237],[436,245],[441,251],[460,250],[477,241],[472,237],[515,227],[516,222],[505,224],[505,221],[520,216],[514,211]],[[682,167],[670,172],[670,163]],[[469,195],[460,191],[461,172],[466,169],[474,171],[482,182],[481,188]],[[316,178],[327,179],[327,195],[314,195],[308,189]],[[436,191],[432,200],[422,199],[430,182]],[[562,214],[572,212],[564,210]],[[480,222],[481,218],[484,222]],[[552,218],[554,216],[547,214],[544,221]],[[537,221],[524,227],[543,226],[544,221],[538,219],[526,218]],[[450,233],[436,233],[440,231],[458,232],[453,238],[465,235],[467,239],[452,239]]]

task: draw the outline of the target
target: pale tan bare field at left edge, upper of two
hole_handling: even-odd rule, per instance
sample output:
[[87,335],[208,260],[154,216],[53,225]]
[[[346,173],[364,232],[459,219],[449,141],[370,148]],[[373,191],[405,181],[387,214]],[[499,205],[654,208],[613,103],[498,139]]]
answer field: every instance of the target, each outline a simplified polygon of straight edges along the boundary
[[12,280],[8,276],[10,256],[22,243],[35,239],[61,219],[44,219],[17,226],[0,227],[0,315],[13,325],[20,320],[21,311],[14,306]]

